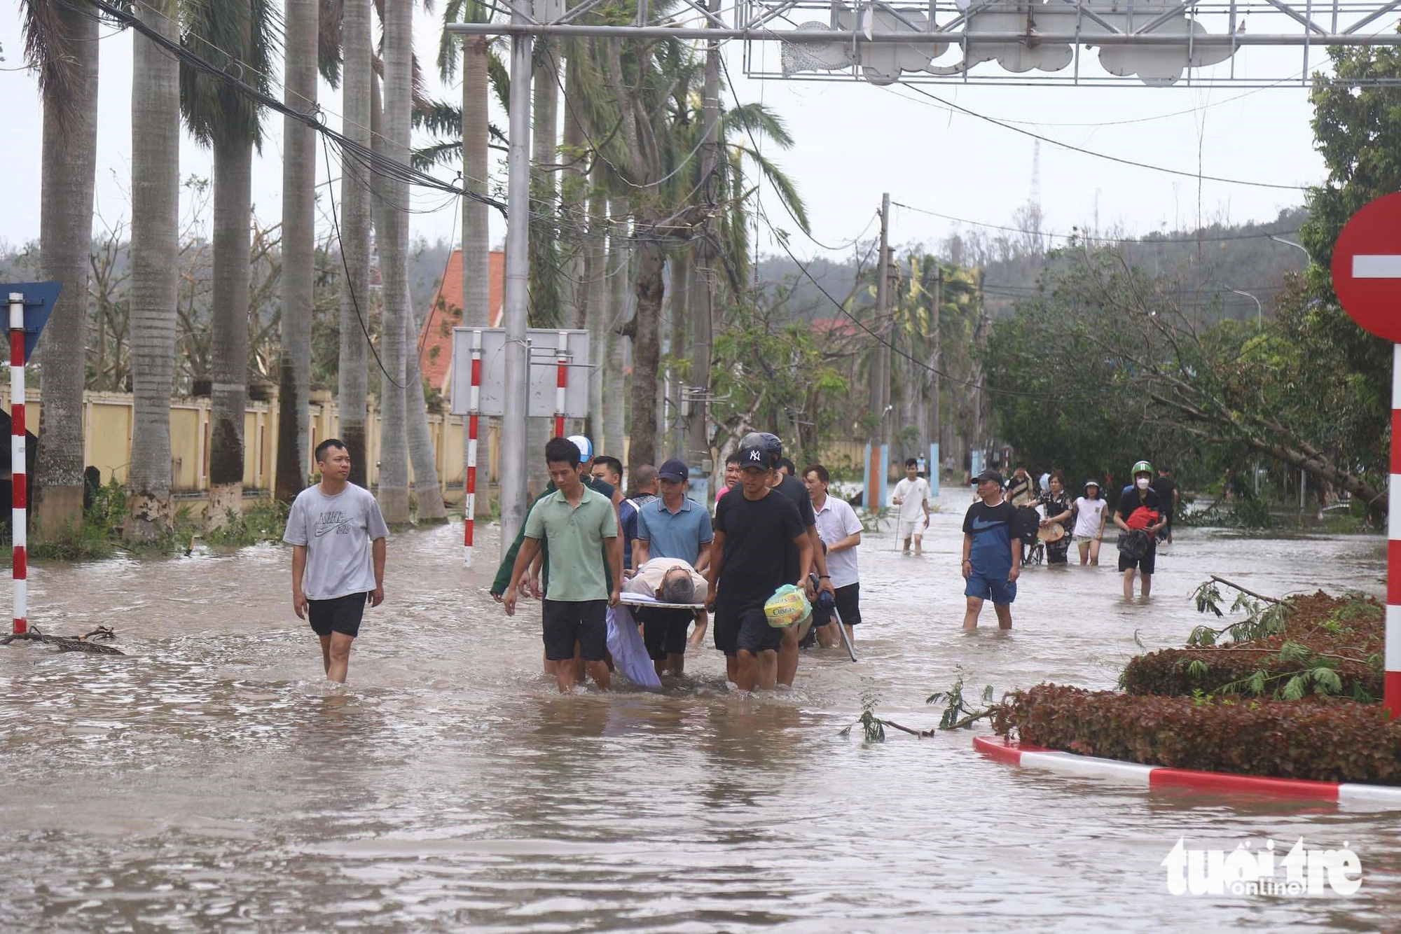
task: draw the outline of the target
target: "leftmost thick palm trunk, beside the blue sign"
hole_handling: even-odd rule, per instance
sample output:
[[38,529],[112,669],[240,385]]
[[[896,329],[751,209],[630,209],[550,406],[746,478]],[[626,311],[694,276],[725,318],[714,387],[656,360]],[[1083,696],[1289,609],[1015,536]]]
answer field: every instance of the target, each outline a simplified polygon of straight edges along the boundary
[[[71,46],[73,94],[43,102],[39,267],[63,286],[43,332],[43,412],[32,489],[35,541],[83,520],[83,377],[97,171],[98,31],[88,11],[53,4]],[[63,113],[67,113],[67,118]]]

